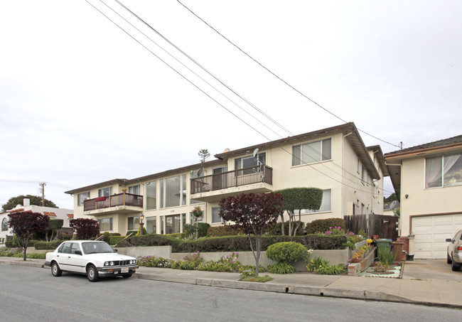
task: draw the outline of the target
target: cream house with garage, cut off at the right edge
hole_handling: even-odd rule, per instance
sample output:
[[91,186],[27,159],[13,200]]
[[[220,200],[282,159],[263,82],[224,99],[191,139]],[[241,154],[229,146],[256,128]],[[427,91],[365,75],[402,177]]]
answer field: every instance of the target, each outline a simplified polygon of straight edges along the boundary
[[462,229],[461,156],[462,135],[385,154],[415,258],[446,258],[446,238]]

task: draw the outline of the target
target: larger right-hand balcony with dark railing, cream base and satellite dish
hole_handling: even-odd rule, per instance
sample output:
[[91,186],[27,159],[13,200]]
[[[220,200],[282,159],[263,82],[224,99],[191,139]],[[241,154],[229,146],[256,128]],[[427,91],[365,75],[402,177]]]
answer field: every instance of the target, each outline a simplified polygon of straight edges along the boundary
[[251,166],[191,179],[191,198],[212,202],[227,195],[272,191],[273,168]]

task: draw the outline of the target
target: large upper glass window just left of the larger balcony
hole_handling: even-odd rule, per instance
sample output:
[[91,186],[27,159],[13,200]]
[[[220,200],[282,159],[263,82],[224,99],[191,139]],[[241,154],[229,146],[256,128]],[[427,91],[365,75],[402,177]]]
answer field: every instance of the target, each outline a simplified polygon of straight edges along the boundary
[[162,179],[161,208],[186,205],[186,174]]

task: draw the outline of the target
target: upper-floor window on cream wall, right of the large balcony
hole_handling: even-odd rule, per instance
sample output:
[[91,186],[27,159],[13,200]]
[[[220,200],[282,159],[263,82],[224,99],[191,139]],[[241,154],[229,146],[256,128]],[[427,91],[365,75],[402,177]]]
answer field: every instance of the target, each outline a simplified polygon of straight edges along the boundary
[[292,146],[292,166],[332,159],[332,139]]

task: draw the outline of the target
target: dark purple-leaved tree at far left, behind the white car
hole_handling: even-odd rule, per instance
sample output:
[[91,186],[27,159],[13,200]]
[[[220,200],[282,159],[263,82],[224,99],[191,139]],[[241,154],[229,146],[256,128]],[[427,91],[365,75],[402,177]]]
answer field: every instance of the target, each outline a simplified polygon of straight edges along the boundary
[[36,232],[43,232],[48,227],[50,218],[41,213],[24,212],[10,213],[8,217],[10,218],[8,225],[21,241],[23,260],[26,260],[27,247],[32,235]]

